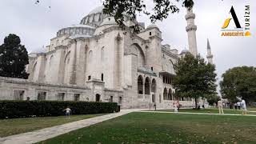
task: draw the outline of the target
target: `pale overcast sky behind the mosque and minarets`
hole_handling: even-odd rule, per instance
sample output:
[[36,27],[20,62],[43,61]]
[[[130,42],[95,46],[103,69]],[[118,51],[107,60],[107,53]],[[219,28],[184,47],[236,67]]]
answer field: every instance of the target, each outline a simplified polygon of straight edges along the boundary
[[[174,1],[174,0],[173,0]],[[206,58],[207,38],[210,41],[214,64],[221,75],[234,66],[256,66],[256,2],[255,0],[195,0],[195,25],[198,26],[198,53]],[[156,22],[162,31],[162,44],[169,44],[181,51],[188,49],[186,34],[186,9],[181,3],[174,2],[180,8],[178,14],[170,14],[162,22]],[[152,0],[146,0],[148,9]],[[245,6],[250,6],[250,37],[222,37],[221,27],[234,6],[240,24],[245,26]],[[0,1],[0,44],[8,34],[17,34],[29,52],[38,51],[50,43],[58,30],[78,24],[91,10],[102,6],[102,0],[1,0]],[[150,19],[138,15],[138,22],[150,25]],[[229,28],[234,27],[230,21]]]

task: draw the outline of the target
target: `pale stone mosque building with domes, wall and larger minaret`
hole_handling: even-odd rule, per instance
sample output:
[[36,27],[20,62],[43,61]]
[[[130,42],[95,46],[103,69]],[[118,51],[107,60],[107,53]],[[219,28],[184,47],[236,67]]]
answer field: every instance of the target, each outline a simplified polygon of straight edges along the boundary
[[[58,30],[45,53],[30,54],[28,80],[0,78],[0,98],[118,102],[122,108],[155,103],[158,108],[171,108],[174,63],[188,51],[178,54],[174,47],[162,45],[162,32],[153,24],[145,28],[140,23],[140,33],[131,33],[128,27],[136,20],[124,15],[126,30],[103,14],[102,7],[80,24]],[[186,20],[194,24],[192,16]],[[197,53],[196,39],[190,38],[195,30],[186,29],[190,51]],[[189,98],[179,102],[193,105]]]

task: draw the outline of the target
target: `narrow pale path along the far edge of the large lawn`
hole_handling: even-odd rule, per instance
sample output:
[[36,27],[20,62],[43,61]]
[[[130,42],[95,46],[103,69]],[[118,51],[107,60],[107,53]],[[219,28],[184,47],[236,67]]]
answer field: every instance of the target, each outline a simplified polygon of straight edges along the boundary
[[205,114],[205,115],[235,115],[235,116],[252,116],[256,117],[256,114],[213,114],[213,113],[188,113],[188,112],[171,112],[171,111],[136,111],[139,113],[170,113],[170,114]]

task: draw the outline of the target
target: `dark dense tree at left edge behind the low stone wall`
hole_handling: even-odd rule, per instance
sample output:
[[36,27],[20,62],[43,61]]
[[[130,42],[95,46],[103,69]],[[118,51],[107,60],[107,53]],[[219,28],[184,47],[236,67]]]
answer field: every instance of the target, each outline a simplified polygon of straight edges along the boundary
[[20,38],[9,34],[0,46],[0,76],[10,78],[28,78],[26,64],[29,63],[25,46],[21,45]]

